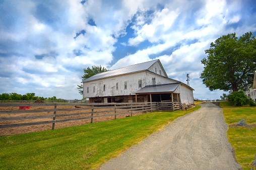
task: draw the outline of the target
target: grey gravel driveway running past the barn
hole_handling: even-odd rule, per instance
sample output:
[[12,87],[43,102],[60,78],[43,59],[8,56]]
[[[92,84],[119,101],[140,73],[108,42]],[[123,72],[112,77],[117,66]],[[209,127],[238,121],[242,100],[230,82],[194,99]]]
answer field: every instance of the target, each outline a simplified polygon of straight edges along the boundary
[[100,169],[239,169],[222,109],[213,103],[179,117]]

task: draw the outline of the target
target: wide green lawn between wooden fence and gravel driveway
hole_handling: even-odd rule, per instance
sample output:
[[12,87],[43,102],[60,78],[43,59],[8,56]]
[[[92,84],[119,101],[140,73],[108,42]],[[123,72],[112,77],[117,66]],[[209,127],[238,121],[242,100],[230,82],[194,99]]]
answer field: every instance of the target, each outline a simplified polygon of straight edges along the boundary
[[0,137],[0,169],[97,169],[179,116],[201,106]]

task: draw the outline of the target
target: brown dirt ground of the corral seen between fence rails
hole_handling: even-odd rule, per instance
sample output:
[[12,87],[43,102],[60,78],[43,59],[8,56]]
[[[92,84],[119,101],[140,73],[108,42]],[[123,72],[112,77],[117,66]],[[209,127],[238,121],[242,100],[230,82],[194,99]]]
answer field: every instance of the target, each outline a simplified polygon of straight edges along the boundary
[[[88,106],[82,106],[88,107]],[[53,109],[54,106],[31,106],[30,110],[33,109]],[[74,105],[65,105],[65,106],[57,106],[58,109],[64,108],[75,108]],[[0,110],[19,110],[19,107],[0,107]],[[110,109],[100,109],[95,108],[94,111],[102,111],[102,113],[95,113],[94,115],[101,115],[101,114],[110,114],[104,112]],[[76,113],[76,112],[89,112],[91,110],[74,110],[74,111],[61,111],[59,113]],[[0,117],[15,117],[15,116],[31,116],[31,115],[46,115],[46,114],[53,114],[53,112],[42,112],[42,113],[0,113]],[[58,112],[56,113],[58,114]],[[142,113],[133,113],[133,116],[139,115]],[[127,114],[117,115],[116,118],[125,117]],[[130,115],[130,114],[129,114]],[[79,115],[79,116],[66,116],[66,117],[56,117],[57,119],[63,118],[73,118],[73,117],[83,117],[83,116],[90,116],[90,115]],[[97,117],[93,118],[93,122],[100,122],[100,121],[107,121],[114,119],[114,116],[107,116],[107,117]],[[13,121],[0,121],[0,124],[12,124],[12,123],[24,123],[24,122],[36,122],[36,121],[47,121],[52,120],[52,118],[43,118],[43,119],[29,119],[29,120],[13,120]],[[73,120],[73,121],[65,121],[65,122],[56,122],[55,129],[62,128],[62,127],[69,127],[69,126],[77,126],[82,124],[91,123],[91,119],[83,119],[83,120]],[[13,134],[21,134],[21,133],[28,133],[34,131],[43,131],[52,129],[52,123],[49,124],[42,124],[42,125],[33,125],[33,126],[20,126],[20,127],[9,127],[9,128],[0,128],[0,136],[6,135],[13,135]]]

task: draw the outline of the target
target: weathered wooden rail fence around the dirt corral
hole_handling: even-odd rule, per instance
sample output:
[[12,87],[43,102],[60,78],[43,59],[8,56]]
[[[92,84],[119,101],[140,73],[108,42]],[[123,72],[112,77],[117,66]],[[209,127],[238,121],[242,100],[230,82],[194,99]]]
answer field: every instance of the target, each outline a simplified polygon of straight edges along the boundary
[[[27,110],[3,110],[3,107],[39,107],[38,109]],[[40,106],[54,107],[52,109],[40,109]],[[71,106],[72,108],[61,108],[61,106]],[[74,106],[74,107],[73,107]],[[2,108],[1,108],[2,107]],[[59,107],[59,108],[57,108]],[[146,113],[159,110],[177,110],[180,108],[179,102],[152,102],[152,103],[0,103],[0,128],[19,127],[28,125],[40,125],[65,121],[75,121],[82,119],[93,119],[97,117],[117,115],[133,116],[134,113]],[[40,114],[39,114],[40,113]],[[103,113],[103,114],[100,114]],[[31,115],[32,114],[32,115]],[[57,118],[57,119],[56,119]],[[44,119],[44,121],[41,121]],[[45,120],[48,119],[48,120]],[[19,122],[30,120],[29,122]],[[17,123],[18,121],[18,123]],[[15,123],[14,123],[15,122]]]

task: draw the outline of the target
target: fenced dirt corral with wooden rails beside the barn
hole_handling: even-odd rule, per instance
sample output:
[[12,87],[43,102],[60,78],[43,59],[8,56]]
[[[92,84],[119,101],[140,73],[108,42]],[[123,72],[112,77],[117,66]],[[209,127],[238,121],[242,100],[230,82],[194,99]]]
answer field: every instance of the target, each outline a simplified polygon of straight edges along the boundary
[[[28,106],[28,110],[19,109]],[[179,108],[178,102],[0,103],[0,136],[107,121],[153,110]]]

